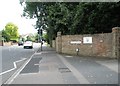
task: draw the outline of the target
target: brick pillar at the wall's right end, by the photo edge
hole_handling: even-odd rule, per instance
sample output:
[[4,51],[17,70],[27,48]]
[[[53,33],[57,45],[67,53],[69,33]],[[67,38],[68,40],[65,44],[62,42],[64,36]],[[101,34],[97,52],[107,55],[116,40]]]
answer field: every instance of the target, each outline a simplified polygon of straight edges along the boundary
[[112,28],[113,41],[112,41],[112,57],[120,58],[120,27]]

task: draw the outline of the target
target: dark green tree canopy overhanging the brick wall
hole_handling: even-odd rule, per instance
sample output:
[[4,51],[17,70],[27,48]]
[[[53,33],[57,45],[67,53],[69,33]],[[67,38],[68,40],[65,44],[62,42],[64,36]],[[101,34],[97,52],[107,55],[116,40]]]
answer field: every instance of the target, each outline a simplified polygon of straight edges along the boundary
[[108,33],[120,26],[120,2],[26,2],[24,16],[37,18],[50,40],[64,35]]

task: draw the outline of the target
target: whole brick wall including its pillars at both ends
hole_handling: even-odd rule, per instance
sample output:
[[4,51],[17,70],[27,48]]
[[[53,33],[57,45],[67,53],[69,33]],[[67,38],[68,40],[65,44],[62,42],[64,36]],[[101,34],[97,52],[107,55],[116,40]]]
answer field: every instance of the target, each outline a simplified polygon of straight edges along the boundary
[[[99,56],[119,58],[120,48],[118,49],[120,28],[113,28],[111,33],[84,34],[84,35],[61,35],[56,38],[56,51],[80,56]],[[117,38],[116,38],[117,34]],[[84,39],[89,39],[92,43],[84,43]],[[89,41],[90,41],[89,40]],[[78,42],[79,43],[76,43]],[[116,44],[117,41],[117,44]],[[77,52],[76,50],[79,49]],[[116,54],[117,52],[117,54]]]

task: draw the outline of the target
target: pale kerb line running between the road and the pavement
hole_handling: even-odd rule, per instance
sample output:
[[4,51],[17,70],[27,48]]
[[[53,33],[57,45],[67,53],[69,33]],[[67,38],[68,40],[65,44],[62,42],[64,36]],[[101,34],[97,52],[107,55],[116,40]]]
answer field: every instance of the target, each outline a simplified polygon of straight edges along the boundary
[[11,84],[13,80],[19,75],[19,73],[25,68],[25,66],[30,62],[34,54],[4,84]]

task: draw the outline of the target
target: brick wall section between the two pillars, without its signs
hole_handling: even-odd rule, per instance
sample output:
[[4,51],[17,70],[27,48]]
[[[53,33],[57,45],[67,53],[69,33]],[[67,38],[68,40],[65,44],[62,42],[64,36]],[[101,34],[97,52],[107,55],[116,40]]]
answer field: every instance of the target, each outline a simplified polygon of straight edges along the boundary
[[[92,44],[84,44],[83,37],[92,37]],[[71,41],[80,41],[81,44],[71,44]],[[62,53],[82,56],[104,56],[110,57],[112,50],[112,35],[107,34],[86,34],[86,35],[66,35],[62,36]]]

